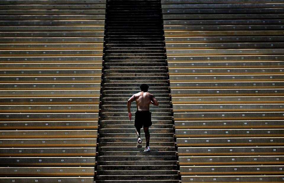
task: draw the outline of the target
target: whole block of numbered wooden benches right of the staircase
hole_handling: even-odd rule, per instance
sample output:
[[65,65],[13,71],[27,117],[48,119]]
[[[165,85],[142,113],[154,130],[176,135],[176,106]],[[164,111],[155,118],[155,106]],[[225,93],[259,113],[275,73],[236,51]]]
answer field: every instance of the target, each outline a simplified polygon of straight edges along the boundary
[[283,182],[283,7],[162,0],[181,182]]

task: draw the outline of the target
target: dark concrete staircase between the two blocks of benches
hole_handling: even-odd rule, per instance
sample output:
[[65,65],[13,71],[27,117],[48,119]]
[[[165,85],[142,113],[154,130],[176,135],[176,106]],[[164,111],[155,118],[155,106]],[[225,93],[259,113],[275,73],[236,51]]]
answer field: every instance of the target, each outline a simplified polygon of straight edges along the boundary
[[[106,11],[96,182],[179,182],[160,1],[109,0]],[[136,147],[127,112],[142,83],[160,102],[150,106],[151,152]]]

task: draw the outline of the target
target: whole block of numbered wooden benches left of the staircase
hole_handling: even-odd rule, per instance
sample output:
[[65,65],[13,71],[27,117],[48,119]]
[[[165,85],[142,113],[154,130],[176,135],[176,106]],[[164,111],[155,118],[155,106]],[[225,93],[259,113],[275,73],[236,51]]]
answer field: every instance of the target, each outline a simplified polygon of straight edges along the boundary
[[93,183],[106,0],[0,4],[0,182]]

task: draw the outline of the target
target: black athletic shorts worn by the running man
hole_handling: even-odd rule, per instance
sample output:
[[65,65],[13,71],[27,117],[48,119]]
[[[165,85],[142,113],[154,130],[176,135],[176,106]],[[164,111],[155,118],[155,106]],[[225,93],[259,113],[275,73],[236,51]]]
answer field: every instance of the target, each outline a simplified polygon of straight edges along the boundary
[[152,125],[151,112],[150,111],[136,111],[135,112],[135,124],[136,128],[147,128]]

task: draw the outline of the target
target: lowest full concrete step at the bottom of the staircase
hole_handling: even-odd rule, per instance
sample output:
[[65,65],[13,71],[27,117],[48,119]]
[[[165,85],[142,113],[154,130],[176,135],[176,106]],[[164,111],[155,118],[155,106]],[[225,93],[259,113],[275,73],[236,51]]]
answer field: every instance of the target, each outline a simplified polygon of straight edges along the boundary
[[[173,180],[178,175],[97,175],[96,180]],[[97,181],[96,181],[97,182]]]

